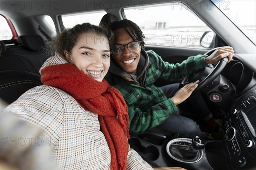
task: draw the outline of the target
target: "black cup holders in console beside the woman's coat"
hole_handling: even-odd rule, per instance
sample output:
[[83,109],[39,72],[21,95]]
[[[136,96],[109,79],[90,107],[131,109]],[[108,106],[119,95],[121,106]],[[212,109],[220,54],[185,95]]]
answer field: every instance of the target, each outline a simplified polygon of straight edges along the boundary
[[129,140],[130,147],[136,150],[140,155],[145,156],[151,161],[155,161],[159,157],[159,150],[157,147],[148,144],[146,142],[140,142],[137,138],[131,138]]

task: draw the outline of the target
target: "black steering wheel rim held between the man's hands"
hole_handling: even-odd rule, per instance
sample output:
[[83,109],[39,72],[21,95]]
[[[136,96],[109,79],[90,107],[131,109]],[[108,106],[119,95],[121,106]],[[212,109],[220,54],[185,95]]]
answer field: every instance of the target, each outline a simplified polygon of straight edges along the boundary
[[[215,51],[217,48],[213,48],[207,51],[204,55],[209,54],[212,51]],[[193,93],[197,93],[201,91],[204,87],[206,87],[209,83],[211,83],[214,79],[218,77],[224,67],[227,65],[228,58],[225,57],[220,59],[215,67],[213,68],[212,72],[210,72],[207,77],[205,77],[201,82],[198,83],[198,87],[193,91]],[[182,81],[180,82],[180,87],[185,85],[186,80],[189,78],[190,75],[183,77]]]

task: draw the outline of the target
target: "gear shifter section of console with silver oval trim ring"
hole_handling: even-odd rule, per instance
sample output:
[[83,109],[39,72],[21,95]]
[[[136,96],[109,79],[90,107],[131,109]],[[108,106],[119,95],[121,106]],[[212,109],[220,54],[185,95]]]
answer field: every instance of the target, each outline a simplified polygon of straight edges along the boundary
[[177,138],[168,142],[166,151],[175,166],[188,170],[230,170],[221,141]]

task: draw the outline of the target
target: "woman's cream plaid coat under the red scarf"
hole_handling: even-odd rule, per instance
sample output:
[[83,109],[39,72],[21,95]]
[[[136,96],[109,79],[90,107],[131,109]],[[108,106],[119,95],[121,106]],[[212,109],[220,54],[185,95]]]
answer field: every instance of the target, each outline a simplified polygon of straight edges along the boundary
[[[55,62],[54,60],[58,60]],[[58,55],[49,58],[43,67],[65,63]],[[108,170],[111,154],[100,131],[98,114],[85,111],[69,94],[51,86],[37,86],[26,91],[5,111],[15,112],[19,119],[39,127],[53,147],[60,169]],[[129,148],[128,170],[151,170],[139,154]]]

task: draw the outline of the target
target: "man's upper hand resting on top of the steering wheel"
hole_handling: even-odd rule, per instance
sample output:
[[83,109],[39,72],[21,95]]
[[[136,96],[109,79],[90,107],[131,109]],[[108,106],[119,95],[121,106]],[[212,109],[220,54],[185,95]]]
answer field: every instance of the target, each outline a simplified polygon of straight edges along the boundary
[[207,64],[214,64],[218,62],[220,59],[228,57],[228,62],[230,62],[233,58],[233,54],[233,47],[218,47],[209,57],[205,58],[205,61],[207,62]]

